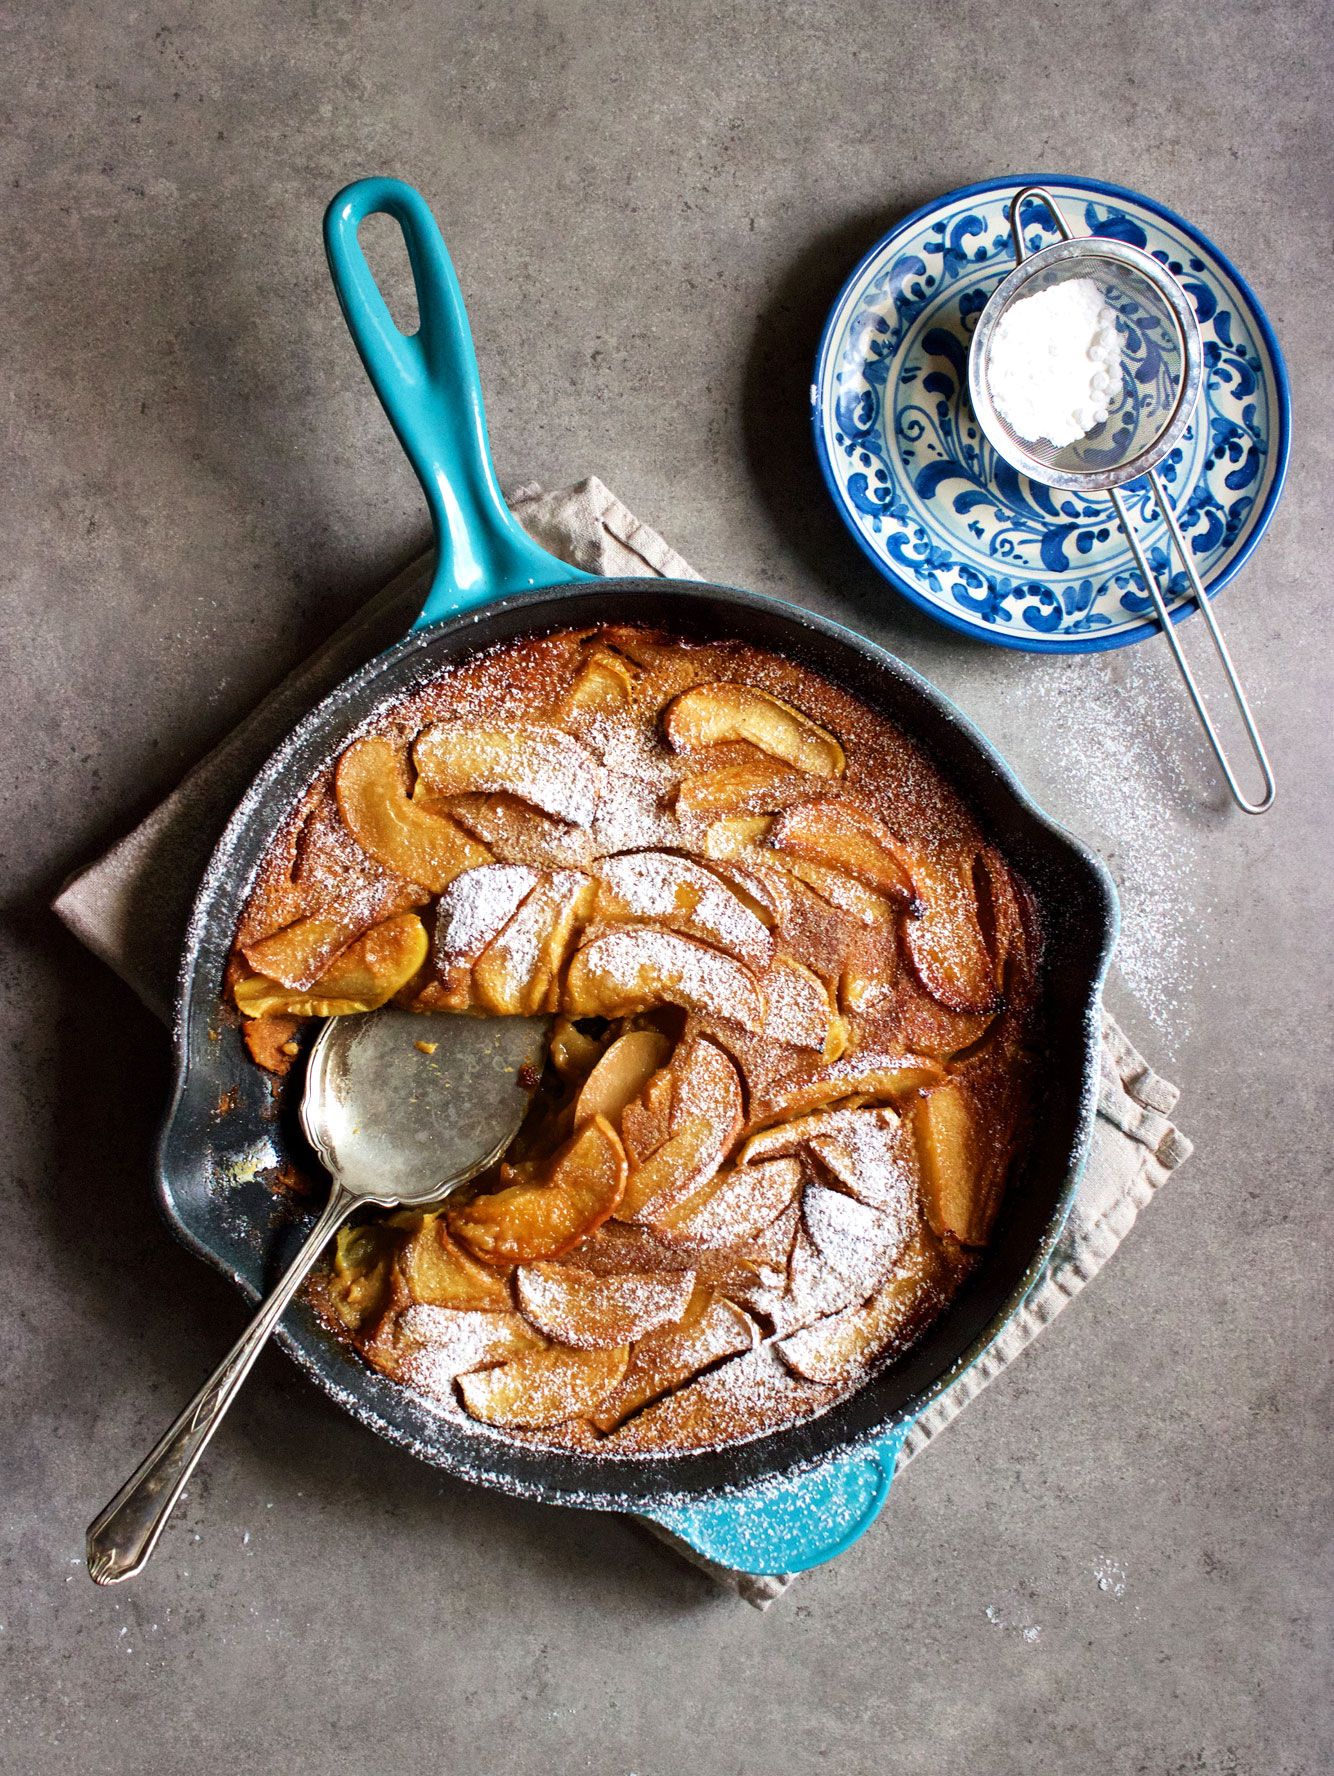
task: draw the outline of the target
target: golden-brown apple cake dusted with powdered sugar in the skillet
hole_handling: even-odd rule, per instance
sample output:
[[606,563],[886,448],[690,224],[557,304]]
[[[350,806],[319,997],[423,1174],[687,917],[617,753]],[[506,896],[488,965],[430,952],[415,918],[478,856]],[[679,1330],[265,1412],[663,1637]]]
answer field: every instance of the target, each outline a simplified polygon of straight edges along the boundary
[[274,838],[227,995],[277,1076],[389,1000],[551,1016],[503,1162],[346,1227],[313,1291],[439,1410],[629,1456],[822,1412],[957,1291],[1032,1117],[1039,941],[858,698],[602,627],[382,709]]

